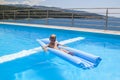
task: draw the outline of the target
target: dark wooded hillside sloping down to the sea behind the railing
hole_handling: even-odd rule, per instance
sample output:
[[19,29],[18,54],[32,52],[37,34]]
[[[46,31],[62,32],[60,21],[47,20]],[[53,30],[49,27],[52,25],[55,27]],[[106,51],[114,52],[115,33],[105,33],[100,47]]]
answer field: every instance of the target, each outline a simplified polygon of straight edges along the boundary
[[25,18],[96,18],[103,16],[85,11],[72,11],[56,7],[28,5],[0,5],[0,19]]

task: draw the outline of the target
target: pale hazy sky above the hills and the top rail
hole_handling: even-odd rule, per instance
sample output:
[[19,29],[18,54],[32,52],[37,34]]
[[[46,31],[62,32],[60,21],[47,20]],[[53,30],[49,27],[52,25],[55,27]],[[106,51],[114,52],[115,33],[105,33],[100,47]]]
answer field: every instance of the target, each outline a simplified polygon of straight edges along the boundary
[[61,8],[120,8],[120,0],[0,0],[0,4],[28,4]]

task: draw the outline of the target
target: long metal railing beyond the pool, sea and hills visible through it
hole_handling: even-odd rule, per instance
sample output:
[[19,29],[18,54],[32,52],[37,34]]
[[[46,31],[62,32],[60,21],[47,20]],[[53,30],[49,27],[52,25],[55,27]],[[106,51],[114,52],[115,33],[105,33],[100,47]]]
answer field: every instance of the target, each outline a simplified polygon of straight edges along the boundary
[[119,31],[120,8],[1,10],[0,21],[64,25]]

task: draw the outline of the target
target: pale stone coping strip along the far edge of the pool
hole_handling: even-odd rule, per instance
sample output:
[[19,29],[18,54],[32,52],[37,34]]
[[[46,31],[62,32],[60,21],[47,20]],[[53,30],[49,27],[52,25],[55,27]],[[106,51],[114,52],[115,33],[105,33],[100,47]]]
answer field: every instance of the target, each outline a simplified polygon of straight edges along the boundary
[[14,22],[0,22],[0,24],[11,24],[11,25],[20,25],[20,26],[29,26],[29,27],[53,28],[53,29],[83,31],[83,32],[91,32],[91,33],[120,35],[120,31],[112,31],[112,30],[99,30],[99,29],[88,29],[88,28],[68,27],[68,26],[54,26],[54,25],[14,23]]

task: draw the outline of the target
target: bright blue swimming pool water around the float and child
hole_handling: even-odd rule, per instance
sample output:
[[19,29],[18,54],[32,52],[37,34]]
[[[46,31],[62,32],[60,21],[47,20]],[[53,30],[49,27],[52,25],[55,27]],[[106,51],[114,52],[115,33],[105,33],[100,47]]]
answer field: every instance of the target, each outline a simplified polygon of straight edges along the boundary
[[102,58],[98,67],[83,70],[44,52],[0,63],[0,80],[120,80],[120,36],[70,30],[0,24],[0,58],[33,49],[37,38],[56,34],[58,41],[74,37],[84,40],[67,44]]

